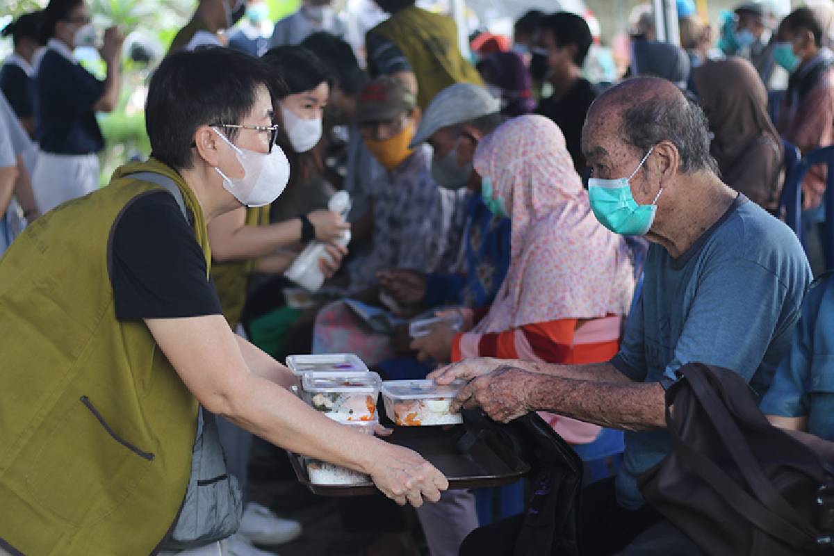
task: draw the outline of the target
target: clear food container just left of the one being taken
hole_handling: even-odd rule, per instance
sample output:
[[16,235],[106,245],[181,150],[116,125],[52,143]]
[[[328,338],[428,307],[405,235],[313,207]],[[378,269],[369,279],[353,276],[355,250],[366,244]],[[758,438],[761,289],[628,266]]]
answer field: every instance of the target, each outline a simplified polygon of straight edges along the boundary
[[373,421],[381,383],[379,374],[369,371],[305,373],[301,398],[336,421]]

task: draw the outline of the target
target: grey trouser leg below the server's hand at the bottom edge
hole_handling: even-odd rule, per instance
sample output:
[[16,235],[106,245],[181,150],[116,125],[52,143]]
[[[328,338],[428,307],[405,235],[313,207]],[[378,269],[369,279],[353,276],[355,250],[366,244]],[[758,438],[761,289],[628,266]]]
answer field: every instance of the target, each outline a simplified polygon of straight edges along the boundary
[[460,543],[478,528],[475,493],[470,490],[447,490],[440,502],[417,508],[431,556],[458,556]]

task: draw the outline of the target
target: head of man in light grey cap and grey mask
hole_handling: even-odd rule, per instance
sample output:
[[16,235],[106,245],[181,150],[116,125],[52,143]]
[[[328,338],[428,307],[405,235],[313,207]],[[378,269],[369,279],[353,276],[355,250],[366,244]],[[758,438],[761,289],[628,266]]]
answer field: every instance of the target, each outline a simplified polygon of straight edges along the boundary
[[469,184],[478,142],[504,121],[500,109],[500,99],[471,83],[455,83],[431,101],[410,146],[435,149],[431,177],[441,188]]

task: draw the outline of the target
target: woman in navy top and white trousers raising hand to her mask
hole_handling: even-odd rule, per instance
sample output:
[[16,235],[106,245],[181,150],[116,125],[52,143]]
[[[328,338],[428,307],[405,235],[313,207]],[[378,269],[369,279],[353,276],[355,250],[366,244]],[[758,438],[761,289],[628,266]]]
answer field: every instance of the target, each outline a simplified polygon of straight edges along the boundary
[[83,0],[51,0],[43,11],[47,51],[35,79],[35,137],[41,153],[32,183],[42,213],[98,188],[98,157],[104,147],[95,113],[112,112],[119,88],[118,59],[124,37],[117,28],[104,33],[98,53],[107,63],[99,81],[73,54],[95,46],[96,32]]

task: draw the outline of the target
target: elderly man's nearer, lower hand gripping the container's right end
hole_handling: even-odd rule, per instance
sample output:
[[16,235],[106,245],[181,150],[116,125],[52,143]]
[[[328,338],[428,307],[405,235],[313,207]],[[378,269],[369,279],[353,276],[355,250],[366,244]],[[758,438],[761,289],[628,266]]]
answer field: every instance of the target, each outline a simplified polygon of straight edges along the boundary
[[480,407],[492,420],[509,423],[533,411],[531,393],[540,378],[539,374],[502,365],[461,388],[450,410],[456,412],[460,408]]

